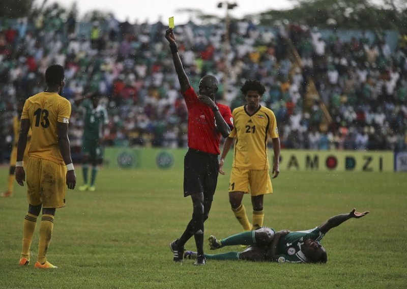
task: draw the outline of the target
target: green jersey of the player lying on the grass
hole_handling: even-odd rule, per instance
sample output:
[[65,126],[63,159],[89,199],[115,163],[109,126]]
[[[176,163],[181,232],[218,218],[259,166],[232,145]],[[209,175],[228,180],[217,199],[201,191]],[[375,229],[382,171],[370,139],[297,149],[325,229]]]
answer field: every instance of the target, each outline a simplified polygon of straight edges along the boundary
[[308,259],[301,251],[301,246],[305,239],[319,241],[324,237],[321,230],[316,227],[306,231],[290,232],[281,237],[278,242],[277,256],[278,262],[284,263],[308,263]]

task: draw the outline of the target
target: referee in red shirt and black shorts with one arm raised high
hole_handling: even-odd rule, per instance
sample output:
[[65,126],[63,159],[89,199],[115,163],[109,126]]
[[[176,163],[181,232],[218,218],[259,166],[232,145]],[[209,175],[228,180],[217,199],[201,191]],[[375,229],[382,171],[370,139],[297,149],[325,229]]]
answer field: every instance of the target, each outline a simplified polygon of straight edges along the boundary
[[198,96],[184,71],[172,28],[165,32],[165,38],[188,109],[189,150],[184,158],[184,197],[191,196],[193,205],[192,219],[182,236],[171,242],[170,249],[174,261],[183,261],[184,245],[194,236],[198,254],[194,265],[205,265],[203,222],[208,219],[218,181],[220,135],[229,135],[233,119],[230,108],[215,101],[218,80],[212,75],[203,76]]

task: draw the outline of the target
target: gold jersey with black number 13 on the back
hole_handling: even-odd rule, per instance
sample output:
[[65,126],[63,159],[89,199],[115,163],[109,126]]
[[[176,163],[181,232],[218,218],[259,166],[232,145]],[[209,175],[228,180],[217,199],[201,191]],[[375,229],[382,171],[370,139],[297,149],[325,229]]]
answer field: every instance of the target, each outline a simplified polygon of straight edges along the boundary
[[56,123],[69,123],[71,103],[57,93],[41,92],[24,103],[21,120],[28,119],[32,130],[29,157],[65,164],[58,147]]

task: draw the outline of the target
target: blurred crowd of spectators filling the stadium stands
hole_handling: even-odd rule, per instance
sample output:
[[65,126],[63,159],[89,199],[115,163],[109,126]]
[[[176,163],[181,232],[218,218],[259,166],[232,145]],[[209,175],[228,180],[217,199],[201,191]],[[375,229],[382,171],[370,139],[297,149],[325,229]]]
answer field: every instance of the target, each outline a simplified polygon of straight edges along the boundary
[[[11,145],[16,101],[45,87],[51,64],[66,68],[63,95],[72,103],[97,91],[109,115],[107,146],[186,147],[187,110],[179,93],[165,42],[165,25],[105,21],[78,22],[51,8],[41,14],[0,22],[0,147]],[[175,28],[185,71],[196,89],[202,75],[220,82],[228,70],[227,91],[219,101],[242,105],[246,79],[264,83],[263,104],[279,124],[281,148],[312,150],[407,149],[407,40],[392,49],[383,35],[363,32],[345,41],[332,30],[287,24],[260,27],[234,20],[225,55],[224,23]],[[293,62],[291,47],[301,61]],[[226,63],[227,60],[227,63]],[[307,85],[319,97],[305,101]],[[332,118],[326,123],[320,103]],[[73,105],[72,147],[80,147],[83,120]],[[0,152],[1,153],[1,152]],[[0,154],[2,155],[2,154]],[[2,158],[0,158],[0,161]]]

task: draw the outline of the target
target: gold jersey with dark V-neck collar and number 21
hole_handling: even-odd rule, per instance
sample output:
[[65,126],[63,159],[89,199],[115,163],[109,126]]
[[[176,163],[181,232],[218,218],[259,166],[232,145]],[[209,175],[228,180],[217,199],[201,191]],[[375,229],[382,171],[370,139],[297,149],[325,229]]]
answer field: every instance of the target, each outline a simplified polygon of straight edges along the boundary
[[229,137],[236,138],[233,167],[240,169],[269,169],[268,137],[277,138],[278,129],[274,112],[260,106],[249,115],[245,106],[232,112],[235,128]]

